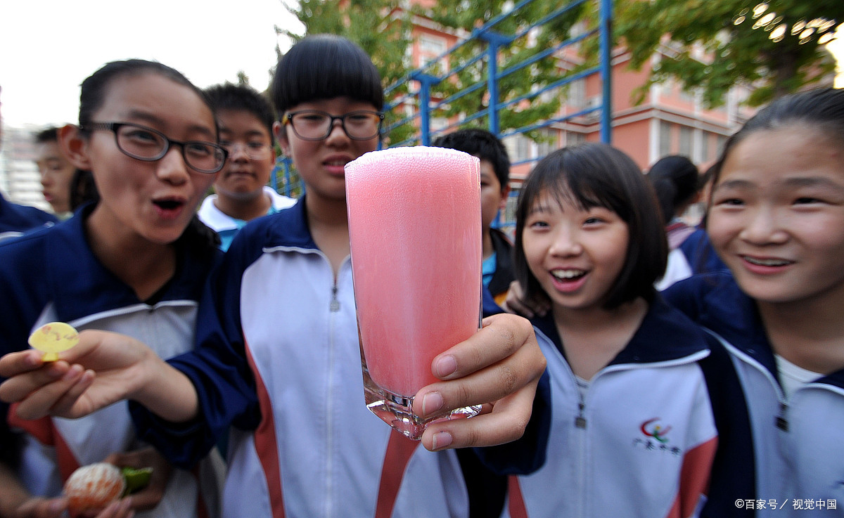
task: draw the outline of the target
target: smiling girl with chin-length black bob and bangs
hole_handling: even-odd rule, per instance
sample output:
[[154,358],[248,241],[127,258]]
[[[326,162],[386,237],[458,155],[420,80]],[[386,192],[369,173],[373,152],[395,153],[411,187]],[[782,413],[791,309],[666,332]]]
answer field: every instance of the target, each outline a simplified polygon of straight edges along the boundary
[[522,187],[515,266],[551,308],[532,322],[552,410],[547,461],[511,479],[512,518],[730,516],[752,498],[728,355],[653,288],[667,254],[656,203],[598,143],[549,154]]

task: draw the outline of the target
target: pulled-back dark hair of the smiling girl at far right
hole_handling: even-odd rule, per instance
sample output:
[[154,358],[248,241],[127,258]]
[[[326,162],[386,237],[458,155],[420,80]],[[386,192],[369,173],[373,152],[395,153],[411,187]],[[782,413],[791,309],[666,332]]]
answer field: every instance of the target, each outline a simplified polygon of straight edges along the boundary
[[[844,89],[820,88],[783,95],[762,108],[744,126],[727,139],[721,155],[712,165],[712,185],[721,178],[721,170],[738,143],[749,135],[793,124],[813,127],[825,138],[844,148]],[[711,200],[710,200],[711,201]]]

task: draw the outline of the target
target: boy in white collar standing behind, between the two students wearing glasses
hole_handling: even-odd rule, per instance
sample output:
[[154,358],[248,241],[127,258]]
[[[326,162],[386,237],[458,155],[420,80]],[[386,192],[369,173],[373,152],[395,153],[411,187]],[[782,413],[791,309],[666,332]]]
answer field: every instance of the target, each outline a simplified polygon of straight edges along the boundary
[[239,84],[217,84],[205,90],[219,120],[219,143],[229,151],[214,192],[199,208],[199,219],[216,230],[220,248],[246,222],[288,208],[295,200],[267,186],[275,164],[273,108],[255,89]]

